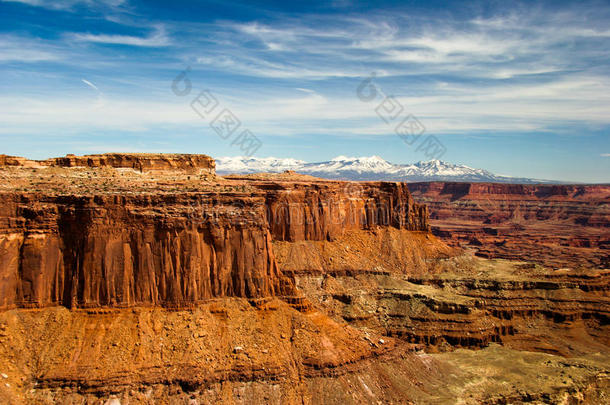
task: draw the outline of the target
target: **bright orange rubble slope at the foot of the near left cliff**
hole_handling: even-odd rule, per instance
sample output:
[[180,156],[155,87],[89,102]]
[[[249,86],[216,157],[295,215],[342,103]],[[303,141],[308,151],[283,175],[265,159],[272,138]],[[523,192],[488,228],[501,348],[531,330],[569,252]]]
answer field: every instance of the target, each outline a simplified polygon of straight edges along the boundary
[[0,402],[104,403],[121,393],[125,403],[233,403],[227,386],[258,384],[260,397],[236,403],[297,404],[311,395],[306,379],[358,371],[396,350],[392,339],[369,340],[279,299],[224,298],[175,311],[3,311]]

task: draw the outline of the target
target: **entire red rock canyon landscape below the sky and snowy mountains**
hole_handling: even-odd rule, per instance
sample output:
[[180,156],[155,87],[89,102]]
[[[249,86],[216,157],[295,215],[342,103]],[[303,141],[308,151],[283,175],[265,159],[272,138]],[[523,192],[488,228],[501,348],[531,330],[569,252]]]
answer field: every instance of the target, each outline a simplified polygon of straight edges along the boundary
[[0,180],[3,403],[610,395],[603,186],[221,177],[163,154],[2,155]]

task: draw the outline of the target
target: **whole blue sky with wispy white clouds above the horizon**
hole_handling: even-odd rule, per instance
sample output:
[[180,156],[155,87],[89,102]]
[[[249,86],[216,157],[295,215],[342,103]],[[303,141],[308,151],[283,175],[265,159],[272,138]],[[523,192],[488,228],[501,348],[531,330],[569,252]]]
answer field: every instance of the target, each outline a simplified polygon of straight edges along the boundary
[[242,154],[207,89],[255,156],[426,160],[357,97],[374,72],[443,160],[610,182],[608,2],[0,0],[0,71],[0,153]]

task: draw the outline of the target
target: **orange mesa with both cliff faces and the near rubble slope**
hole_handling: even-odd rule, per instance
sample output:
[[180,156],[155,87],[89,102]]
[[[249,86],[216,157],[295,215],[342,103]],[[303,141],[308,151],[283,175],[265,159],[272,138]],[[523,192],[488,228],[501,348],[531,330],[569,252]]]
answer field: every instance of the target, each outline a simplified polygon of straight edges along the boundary
[[156,402],[207,387],[197,398],[226,401],[215,384],[267,395],[281,381],[278,401],[302,403],[321,398],[309,379],[407,352],[312,309],[272,244],[426,231],[404,185],[212,181],[181,163],[147,175],[114,170],[142,170],[130,157],[79,159],[0,173],[0,371],[14,384],[0,399]]

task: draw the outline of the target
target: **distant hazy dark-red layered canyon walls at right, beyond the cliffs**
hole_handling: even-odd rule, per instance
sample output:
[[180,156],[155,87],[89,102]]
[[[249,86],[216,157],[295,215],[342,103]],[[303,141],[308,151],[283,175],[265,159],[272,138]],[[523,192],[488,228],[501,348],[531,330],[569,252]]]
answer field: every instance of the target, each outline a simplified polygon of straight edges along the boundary
[[610,186],[410,183],[433,232],[484,257],[610,267]]

